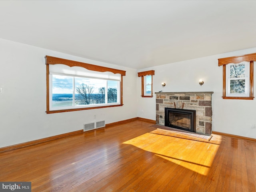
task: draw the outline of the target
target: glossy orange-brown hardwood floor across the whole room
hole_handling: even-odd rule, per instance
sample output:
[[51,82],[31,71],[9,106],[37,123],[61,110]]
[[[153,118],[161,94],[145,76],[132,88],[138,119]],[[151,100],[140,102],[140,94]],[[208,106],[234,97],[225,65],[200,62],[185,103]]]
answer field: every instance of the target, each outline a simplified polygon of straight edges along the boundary
[[32,192],[256,191],[256,142],[202,142],[151,125],[135,120],[2,152],[0,181],[32,182]]

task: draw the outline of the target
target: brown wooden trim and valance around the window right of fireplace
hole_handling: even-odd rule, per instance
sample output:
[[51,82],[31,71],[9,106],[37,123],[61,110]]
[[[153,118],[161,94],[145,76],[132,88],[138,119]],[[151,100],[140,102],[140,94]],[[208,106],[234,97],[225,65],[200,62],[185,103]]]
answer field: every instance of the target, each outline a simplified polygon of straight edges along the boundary
[[[238,64],[243,61],[250,62],[250,79],[249,79],[249,96],[248,97],[237,97],[237,96],[226,96],[226,65],[233,63]],[[256,61],[256,53],[253,54],[246,54],[242,56],[234,56],[234,57],[227,57],[227,58],[220,58],[218,59],[218,66],[223,66],[223,99],[241,99],[241,100],[253,100],[253,86],[254,86],[254,77],[253,77],[253,67],[254,61]]]

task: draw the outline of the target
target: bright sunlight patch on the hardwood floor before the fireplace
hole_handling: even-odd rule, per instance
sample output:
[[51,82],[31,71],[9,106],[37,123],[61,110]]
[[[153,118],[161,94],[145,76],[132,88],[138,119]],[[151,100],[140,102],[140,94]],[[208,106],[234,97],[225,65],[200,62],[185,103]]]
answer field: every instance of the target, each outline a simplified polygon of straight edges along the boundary
[[146,133],[124,142],[183,166],[198,174],[208,175],[219,144]]

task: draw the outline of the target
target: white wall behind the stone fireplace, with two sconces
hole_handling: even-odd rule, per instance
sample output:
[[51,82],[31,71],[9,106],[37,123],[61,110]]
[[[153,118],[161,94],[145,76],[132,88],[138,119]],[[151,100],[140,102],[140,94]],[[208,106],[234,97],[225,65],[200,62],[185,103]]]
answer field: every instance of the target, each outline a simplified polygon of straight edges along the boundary
[[[238,136],[256,138],[256,129],[250,128],[256,124],[256,98],[254,100],[224,100],[222,99],[222,66],[218,66],[218,58],[239,56],[255,53],[256,48],[240,50],[220,55],[197,58],[155,66],[138,70],[137,72],[155,70],[153,76],[153,92],[200,92],[213,91],[212,94],[212,130]],[[204,84],[199,85],[198,80]],[[163,88],[161,82],[165,82]],[[254,70],[254,82],[256,72]],[[141,98],[141,79],[138,83],[138,116],[156,119],[156,97]],[[254,90],[255,89],[254,83]],[[254,93],[255,96],[255,93]],[[143,113],[142,113],[143,110]]]

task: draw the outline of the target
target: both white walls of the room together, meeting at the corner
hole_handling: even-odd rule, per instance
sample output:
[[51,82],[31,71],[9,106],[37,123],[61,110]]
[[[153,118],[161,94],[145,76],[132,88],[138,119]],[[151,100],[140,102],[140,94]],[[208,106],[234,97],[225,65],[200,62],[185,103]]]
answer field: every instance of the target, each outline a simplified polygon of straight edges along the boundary
[[[81,130],[86,122],[106,120],[108,124],[137,116],[155,120],[155,94],[153,98],[141,98],[137,72],[145,70],[155,70],[153,92],[213,91],[212,129],[256,138],[256,129],[250,128],[256,124],[256,99],[223,100],[222,67],[218,67],[218,58],[255,52],[252,48],[137,71],[0,39],[0,147]],[[46,114],[45,55],[126,70],[124,106]],[[204,80],[202,86],[198,84],[200,78]],[[161,82],[166,83],[164,88]]]

